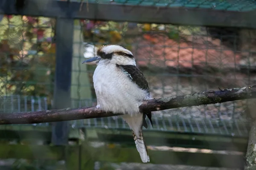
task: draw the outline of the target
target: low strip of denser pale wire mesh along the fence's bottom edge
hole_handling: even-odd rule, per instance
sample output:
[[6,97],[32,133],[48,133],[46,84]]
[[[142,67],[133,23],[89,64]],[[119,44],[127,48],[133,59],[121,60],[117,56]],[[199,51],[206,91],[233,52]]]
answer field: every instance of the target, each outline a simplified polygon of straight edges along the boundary
[[[33,96],[4,96],[0,98],[0,113],[14,113],[14,112],[30,112],[48,110],[50,105],[47,104],[46,97]],[[72,108],[76,101],[72,101]],[[52,103],[52,102],[51,102]],[[83,100],[79,102],[78,107],[91,106],[90,100]],[[174,112],[175,113],[175,112]],[[184,113],[184,112],[183,112]],[[206,116],[180,116],[177,113],[167,112],[163,115],[153,115],[152,121],[154,127],[150,126],[148,130],[159,130],[166,132],[185,132],[185,133],[202,133],[202,134],[218,134],[223,136],[247,136],[247,120],[241,121],[232,118],[220,118],[227,116],[225,114],[218,115],[218,117],[207,118]],[[147,123],[150,122],[147,120]],[[33,126],[49,126],[49,123],[32,124]],[[87,120],[70,121],[70,126],[73,128],[107,128],[107,129],[129,129],[128,125],[120,118],[97,118]]]

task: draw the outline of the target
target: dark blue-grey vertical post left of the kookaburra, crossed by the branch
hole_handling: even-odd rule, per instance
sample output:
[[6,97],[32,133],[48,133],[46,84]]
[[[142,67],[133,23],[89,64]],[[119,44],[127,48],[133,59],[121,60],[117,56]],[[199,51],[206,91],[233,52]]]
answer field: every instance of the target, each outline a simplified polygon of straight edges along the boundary
[[[68,108],[71,104],[70,86],[73,54],[73,19],[57,18],[56,40],[56,68],[54,87],[54,109]],[[68,142],[68,122],[52,123],[52,143],[65,145]]]

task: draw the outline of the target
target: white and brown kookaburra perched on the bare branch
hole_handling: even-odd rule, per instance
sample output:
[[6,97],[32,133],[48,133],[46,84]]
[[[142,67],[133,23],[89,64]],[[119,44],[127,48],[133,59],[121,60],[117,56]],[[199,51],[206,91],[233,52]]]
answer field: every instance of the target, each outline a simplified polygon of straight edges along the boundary
[[105,112],[121,113],[132,131],[142,162],[150,161],[143,137],[143,126],[148,128],[146,117],[152,127],[151,112],[140,113],[143,100],[152,99],[148,82],[136,66],[134,55],[120,45],[102,45],[96,57],[82,63],[96,65],[93,87],[97,98],[96,108]]

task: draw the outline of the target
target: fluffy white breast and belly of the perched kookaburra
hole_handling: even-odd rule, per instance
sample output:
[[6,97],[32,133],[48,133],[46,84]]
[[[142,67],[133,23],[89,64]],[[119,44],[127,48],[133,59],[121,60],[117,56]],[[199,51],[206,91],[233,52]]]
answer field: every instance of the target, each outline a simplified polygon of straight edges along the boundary
[[145,90],[115,64],[99,64],[93,74],[93,85],[98,105],[113,113],[139,113],[141,101],[147,99]]

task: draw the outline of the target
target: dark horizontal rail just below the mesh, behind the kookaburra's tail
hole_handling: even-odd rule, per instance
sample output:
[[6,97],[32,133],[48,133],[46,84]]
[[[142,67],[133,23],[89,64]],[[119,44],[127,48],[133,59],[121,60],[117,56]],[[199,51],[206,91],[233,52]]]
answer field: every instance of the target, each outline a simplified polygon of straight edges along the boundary
[[[91,142],[112,142],[134,146],[134,140],[131,138],[131,131],[129,129],[115,129],[115,131],[116,133],[114,134],[111,129],[87,128],[87,133],[97,133],[96,137],[90,137],[87,139]],[[151,146],[236,150],[241,152],[245,152],[247,147],[247,137],[241,136],[220,136],[216,134],[184,132],[169,133],[164,130],[145,130],[143,131],[143,135],[146,144]]]

